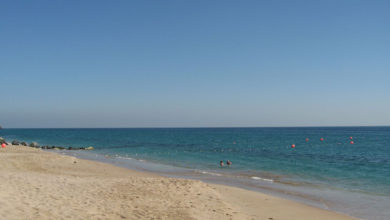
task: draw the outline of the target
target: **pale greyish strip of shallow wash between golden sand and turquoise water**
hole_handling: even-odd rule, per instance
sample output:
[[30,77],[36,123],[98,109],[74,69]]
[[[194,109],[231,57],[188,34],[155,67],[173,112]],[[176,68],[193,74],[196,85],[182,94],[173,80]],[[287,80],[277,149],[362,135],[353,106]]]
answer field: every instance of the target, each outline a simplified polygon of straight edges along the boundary
[[[48,152],[53,151],[48,150]],[[320,208],[342,215],[351,216],[356,219],[386,219],[386,217],[384,217],[386,216],[386,214],[383,214],[381,212],[359,212],[361,209],[357,210],[355,208],[361,204],[372,204],[372,202],[374,201],[372,200],[373,198],[371,194],[356,194],[352,191],[343,191],[341,189],[336,188],[328,189],[312,186],[304,186],[297,188],[296,185],[288,185],[285,184],[285,182],[279,181],[260,181],[259,184],[259,180],[252,180],[252,182],[247,182],[247,179],[242,180],[239,178],[240,176],[225,176],[225,174],[221,173],[205,173],[202,170],[176,167],[172,165],[161,164],[155,161],[148,161],[137,158],[101,154],[94,151],[54,152],[61,155],[75,156],[81,159],[103,162],[130,170],[153,173],[168,178],[200,180],[208,184],[217,184],[227,187],[244,189],[251,192],[257,192],[260,194],[298,202],[301,204],[308,205],[310,207]],[[88,156],[86,157],[86,155]],[[154,169],[154,167],[156,166],[158,166],[158,170]],[[172,168],[174,170],[171,170]],[[340,199],[342,201],[340,201]],[[357,201],[359,201],[359,204],[356,205]],[[380,203],[387,204],[387,201],[381,201]],[[382,206],[385,207],[386,205]],[[383,210],[383,207],[381,207],[381,210]]]

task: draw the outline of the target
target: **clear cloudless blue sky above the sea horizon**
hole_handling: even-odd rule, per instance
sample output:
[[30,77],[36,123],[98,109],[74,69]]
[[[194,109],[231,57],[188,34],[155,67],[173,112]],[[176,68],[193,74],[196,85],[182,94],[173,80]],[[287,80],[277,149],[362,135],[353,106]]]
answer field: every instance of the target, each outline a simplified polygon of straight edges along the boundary
[[0,1],[3,127],[390,125],[390,1]]

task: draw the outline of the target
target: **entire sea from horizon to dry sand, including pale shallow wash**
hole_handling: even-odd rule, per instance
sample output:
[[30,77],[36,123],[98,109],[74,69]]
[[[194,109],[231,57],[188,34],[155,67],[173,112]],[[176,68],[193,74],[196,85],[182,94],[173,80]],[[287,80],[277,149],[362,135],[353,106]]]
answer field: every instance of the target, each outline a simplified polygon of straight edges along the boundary
[[2,129],[0,137],[93,146],[47,151],[390,219],[390,127]]

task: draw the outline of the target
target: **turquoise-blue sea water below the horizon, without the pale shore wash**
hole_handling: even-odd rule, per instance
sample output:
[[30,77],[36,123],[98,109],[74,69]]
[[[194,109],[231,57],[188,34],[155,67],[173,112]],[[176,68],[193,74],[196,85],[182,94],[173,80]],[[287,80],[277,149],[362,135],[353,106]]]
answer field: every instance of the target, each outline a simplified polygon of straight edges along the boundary
[[[390,197],[390,127],[3,129],[0,136],[94,146],[93,153],[111,158],[217,176]],[[220,160],[233,165],[220,168]]]

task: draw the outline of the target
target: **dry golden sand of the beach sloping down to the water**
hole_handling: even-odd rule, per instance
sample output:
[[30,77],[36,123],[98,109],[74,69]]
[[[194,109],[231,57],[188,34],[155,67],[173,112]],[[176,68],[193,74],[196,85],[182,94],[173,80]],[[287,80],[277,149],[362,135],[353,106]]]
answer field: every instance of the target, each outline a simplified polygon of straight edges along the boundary
[[353,219],[197,180],[23,146],[0,149],[0,219]]

